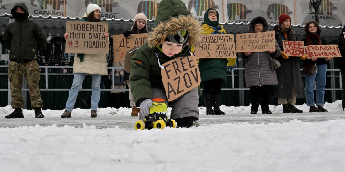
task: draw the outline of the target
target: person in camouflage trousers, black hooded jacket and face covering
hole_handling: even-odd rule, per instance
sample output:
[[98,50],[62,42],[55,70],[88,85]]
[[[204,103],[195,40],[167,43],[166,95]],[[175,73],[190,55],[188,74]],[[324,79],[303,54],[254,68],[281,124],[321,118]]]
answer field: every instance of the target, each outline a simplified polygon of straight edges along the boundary
[[25,76],[31,100],[31,107],[35,110],[36,118],[43,118],[42,99],[38,82],[38,50],[47,44],[47,37],[41,27],[29,20],[28,8],[24,3],[16,3],[11,10],[15,21],[10,23],[3,35],[2,44],[10,50],[8,65],[8,79],[11,83],[11,106],[14,111],[5,118],[23,118],[22,85]]

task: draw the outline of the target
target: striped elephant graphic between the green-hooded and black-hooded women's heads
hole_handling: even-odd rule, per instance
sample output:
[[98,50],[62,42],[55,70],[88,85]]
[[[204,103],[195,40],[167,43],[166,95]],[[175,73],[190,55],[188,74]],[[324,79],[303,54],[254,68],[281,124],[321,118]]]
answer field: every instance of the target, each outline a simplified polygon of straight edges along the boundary
[[252,10],[248,10],[245,4],[228,3],[229,20],[235,20],[236,15],[238,15],[241,20],[246,20],[246,15],[251,13]]

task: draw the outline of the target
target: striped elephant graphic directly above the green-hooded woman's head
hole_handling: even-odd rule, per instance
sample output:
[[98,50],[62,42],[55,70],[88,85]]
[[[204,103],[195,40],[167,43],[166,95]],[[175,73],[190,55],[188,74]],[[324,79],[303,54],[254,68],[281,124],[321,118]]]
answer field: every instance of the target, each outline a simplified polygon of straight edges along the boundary
[[213,8],[216,10],[219,9],[219,7],[216,6],[213,0],[190,0],[188,2],[188,10],[190,11],[193,7],[197,16],[202,16],[203,11],[206,11],[209,8]]

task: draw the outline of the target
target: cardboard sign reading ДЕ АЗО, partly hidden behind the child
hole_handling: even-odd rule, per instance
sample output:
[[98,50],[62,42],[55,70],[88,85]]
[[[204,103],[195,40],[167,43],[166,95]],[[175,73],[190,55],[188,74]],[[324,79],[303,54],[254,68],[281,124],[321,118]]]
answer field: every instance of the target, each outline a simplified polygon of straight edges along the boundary
[[125,37],[123,34],[112,35],[114,42],[114,62],[125,61],[126,52],[144,44],[148,36],[148,33],[131,34],[128,37]]

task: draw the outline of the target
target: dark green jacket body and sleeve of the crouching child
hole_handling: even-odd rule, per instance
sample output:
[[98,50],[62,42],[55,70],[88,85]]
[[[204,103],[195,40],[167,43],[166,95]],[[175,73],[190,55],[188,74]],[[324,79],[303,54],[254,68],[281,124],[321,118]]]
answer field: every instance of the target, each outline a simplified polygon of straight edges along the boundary
[[152,98],[151,88],[164,89],[159,64],[163,65],[176,57],[185,56],[190,56],[188,47],[173,57],[164,55],[157,48],[150,49],[147,42],[137,50],[131,58],[129,80],[134,102],[138,107],[141,103],[138,100]]

